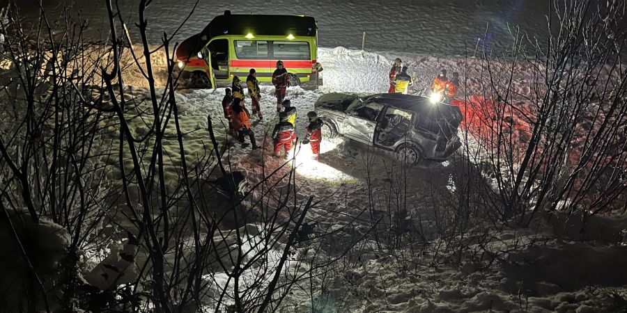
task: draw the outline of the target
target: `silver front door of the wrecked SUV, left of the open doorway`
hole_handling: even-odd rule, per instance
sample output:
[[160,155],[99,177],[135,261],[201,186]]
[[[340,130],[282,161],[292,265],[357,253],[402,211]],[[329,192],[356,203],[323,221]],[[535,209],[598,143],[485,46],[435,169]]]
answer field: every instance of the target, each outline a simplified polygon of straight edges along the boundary
[[346,111],[343,134],[361,143],[373,144],[374,131],[383,105],[374,101],[361,102]]

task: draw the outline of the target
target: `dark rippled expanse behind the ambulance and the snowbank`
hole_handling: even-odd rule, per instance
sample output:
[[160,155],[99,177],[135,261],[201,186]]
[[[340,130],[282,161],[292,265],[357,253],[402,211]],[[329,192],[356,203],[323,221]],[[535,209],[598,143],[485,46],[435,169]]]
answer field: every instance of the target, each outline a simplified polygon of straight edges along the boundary
[[[306,14],[318,21],[321,47],[359,48],[365,31],[366,49],[444,56],[473,50],[477,38],[487,39],[490,49],[509,45],[509,29],[516,25],[543,40],[548,3],[548,0],[201,1],[175,40],[181,41],[199,32],[224,10],[231,10],[233,14]],[[38,1],[22,0],[17,6],[26,23],[36,22]],[[134,23],[138,22],[139,0],[120,0],[118,6],[121,16],[130,25],[132,40],[137,42],[139,32]],[[148,41],[159,43],[164,32],[173,33],[193,6],[194,1],[190,0],[153,1],[146,11]],[[69,10],[75,19],[88,21],[86,34],[89,38],[109,35],[103,0],[43,0],[43,8],[49,19]],[[481,44],[483,42],[486,40],[480,40]]]

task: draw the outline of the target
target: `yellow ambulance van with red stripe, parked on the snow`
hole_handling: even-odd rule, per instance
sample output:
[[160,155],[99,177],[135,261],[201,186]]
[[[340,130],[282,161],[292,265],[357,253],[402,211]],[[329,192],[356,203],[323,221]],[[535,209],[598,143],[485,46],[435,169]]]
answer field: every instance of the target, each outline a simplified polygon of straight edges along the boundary
[[[260,82],[272,81],[277,61],[284,62],[291,86],[315,79],[321,69],[314,17],[300,15],[232,15],[225,11],[176,49],[180,77],[195,87],[228,85],[233,76],[246,80],[254,68]],[[228,83],[227,83],[228,82]]]

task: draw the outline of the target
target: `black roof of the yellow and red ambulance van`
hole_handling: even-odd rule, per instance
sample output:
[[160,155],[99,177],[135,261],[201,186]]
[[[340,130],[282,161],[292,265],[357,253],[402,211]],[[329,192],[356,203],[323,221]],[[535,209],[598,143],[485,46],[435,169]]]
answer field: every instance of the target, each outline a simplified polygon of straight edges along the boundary
[[[280,21],[280,22],[279,22]],[[298,15],[239,15],[214,17],[201,32],[208,38],[218,35],[316,35],[316,19]]]

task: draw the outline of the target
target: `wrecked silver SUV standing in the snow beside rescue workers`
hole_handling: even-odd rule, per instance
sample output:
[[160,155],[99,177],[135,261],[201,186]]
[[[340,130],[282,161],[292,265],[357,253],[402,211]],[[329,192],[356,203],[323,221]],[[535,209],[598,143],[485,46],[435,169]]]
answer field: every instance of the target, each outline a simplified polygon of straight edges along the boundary
[[433,103],[428,97],[330,93],[320,97],[314,107],[324,122],[325,136],[342,135],[393,151],[406,163],[444,161],[461,145],[457,135],[460,109]]

